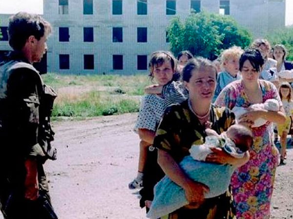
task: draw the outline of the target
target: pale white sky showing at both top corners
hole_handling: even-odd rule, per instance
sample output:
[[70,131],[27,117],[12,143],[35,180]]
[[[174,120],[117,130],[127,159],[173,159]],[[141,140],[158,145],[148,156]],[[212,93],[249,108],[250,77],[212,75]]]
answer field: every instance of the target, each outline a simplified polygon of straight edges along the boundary
[[[0,0],[0,14],[15,14],[19,11],[42,14],[42,7],[42,0]],[[293,0],[286,0],[286,25],[292,24]]]

